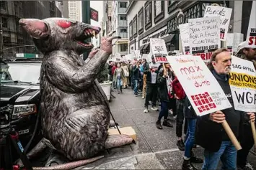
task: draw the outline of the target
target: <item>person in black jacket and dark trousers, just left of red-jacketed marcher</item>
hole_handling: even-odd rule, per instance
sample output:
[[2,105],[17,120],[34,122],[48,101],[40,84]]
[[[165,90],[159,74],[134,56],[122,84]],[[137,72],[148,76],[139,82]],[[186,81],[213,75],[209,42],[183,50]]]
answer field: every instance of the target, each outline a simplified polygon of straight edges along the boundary
[[167,126],[167,127],[173,127],[171,123],[169,123],[169,121],[167,121],[168,118],[168,111],[169,111],[169,98],[170,98],[170,94],[167,88],[167,80],[171,79],[172,80],[172,71],[170,70],[170,65],[169,63],[164,63],[164,67],[166,69],[166,71],[164,71],[164,69],[160,69],[159,73],[157,75],[157,90],[159,93],[159,98],[161,101],[161,110],[159,112],[159,116],[158,116],[158,120],[156,121],[156,128],[162,129],[162,125],[161,125],[161,120],[162,117],[164,117],[164,122],[163,122],[163,126]]

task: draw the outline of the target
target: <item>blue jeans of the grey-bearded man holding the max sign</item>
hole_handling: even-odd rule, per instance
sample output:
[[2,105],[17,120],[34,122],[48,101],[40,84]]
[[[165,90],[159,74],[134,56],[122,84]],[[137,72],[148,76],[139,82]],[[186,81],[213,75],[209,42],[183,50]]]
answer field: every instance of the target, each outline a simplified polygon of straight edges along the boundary
[[237,169],[237,149],[231,141],[222,141],[221,148],[216,152],[204,151],[202,169],[217,169],[219,161],[222,162],[221,169]]

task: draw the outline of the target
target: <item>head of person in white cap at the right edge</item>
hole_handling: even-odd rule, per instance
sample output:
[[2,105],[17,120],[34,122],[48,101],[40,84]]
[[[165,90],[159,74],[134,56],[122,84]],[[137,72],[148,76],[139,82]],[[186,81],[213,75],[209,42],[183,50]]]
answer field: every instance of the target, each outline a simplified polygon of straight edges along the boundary
[[246,41],[241,42],[238,45],[236,56],[244,60],[253,62],[253,65],[255,66],[256,69],[256,48],[248,48],[246,47],[246,45]]

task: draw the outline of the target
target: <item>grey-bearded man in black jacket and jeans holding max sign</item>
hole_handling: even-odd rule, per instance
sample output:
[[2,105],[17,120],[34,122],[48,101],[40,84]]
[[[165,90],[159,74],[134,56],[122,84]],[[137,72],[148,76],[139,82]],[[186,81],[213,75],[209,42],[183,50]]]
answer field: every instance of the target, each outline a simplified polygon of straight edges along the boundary
[[251,121],[255,121],[255,115],[253,113],[244,114],[234,109],[229,86],[231,55],[227,49],[217,49],[213,52],[208,67],[221,85],[232,107],[198,118],[195,141],[205,148],[202,169],[217,169],[221,160],[222,169],[235,170],[237,169],[237,149],[230,141],[221,123],[226,120],[234,135],[238,137],[240,122],[244,115],[249,115]]

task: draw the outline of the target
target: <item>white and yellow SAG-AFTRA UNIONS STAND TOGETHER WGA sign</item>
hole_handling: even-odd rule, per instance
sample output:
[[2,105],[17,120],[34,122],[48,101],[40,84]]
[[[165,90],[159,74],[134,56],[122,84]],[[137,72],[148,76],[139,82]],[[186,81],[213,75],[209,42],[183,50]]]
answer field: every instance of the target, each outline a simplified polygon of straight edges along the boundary
[[256,112],[256,71],[252,62],[232,56],[229,85],[234,108]]

